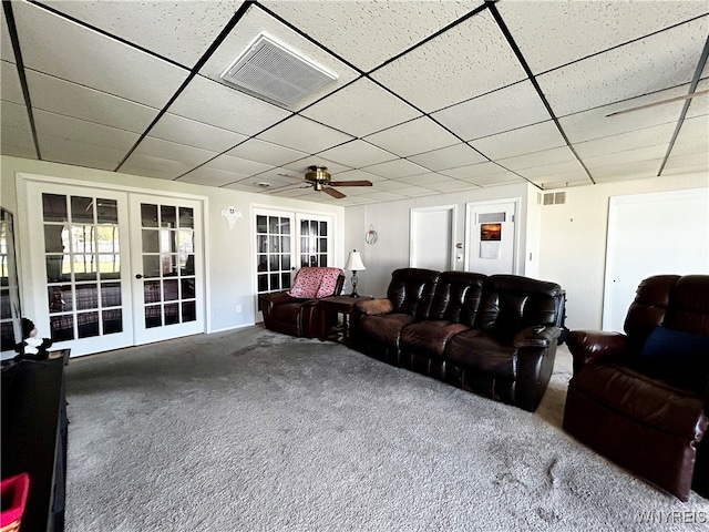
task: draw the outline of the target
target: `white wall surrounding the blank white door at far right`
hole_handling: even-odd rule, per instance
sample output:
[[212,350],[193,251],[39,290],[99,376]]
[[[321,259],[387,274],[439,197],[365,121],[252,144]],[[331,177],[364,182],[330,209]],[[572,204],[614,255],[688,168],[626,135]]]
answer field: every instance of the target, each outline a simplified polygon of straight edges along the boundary
[[706,173],[578,186],[565,204],[541,207],[538,277],[566,289],[568,328],[602,328],[609,198],[708,186]]

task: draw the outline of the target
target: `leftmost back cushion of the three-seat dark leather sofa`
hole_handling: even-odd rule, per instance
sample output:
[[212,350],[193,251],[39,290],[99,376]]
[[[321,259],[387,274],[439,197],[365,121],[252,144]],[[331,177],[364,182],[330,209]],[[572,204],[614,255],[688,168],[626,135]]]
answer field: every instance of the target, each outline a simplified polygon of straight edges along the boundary
[[417,320],[425,319],[440,275],[440,272],[423,268],[394,269],[387,289],[387,298],[393,305],[392,311],[408,314]]

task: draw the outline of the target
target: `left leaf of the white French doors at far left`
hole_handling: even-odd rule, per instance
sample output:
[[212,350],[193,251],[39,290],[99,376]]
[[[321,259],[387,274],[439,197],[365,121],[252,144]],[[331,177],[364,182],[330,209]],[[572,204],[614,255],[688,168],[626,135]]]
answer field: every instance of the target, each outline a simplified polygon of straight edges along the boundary
[[43,182],[27,191],[25,316],[39,336],[72,356],[133,345],[127,195]]

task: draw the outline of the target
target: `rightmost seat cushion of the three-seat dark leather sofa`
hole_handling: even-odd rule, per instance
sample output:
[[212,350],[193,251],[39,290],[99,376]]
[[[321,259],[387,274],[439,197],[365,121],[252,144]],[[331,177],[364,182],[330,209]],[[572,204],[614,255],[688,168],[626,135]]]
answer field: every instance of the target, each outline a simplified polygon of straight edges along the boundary
[[455,335],[445,347],[446,361],[490,377],[514,380],[517,348],[480,329]]

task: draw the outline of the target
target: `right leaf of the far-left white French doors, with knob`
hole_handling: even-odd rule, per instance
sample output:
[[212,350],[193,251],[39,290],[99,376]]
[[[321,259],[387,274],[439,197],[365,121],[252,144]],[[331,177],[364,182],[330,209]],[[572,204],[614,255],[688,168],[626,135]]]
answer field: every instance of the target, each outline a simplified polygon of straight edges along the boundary
[[136,344],[204,332],[202,234],[199,202],[131,194]]

